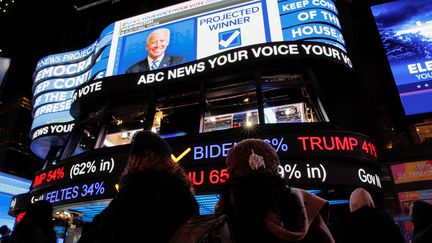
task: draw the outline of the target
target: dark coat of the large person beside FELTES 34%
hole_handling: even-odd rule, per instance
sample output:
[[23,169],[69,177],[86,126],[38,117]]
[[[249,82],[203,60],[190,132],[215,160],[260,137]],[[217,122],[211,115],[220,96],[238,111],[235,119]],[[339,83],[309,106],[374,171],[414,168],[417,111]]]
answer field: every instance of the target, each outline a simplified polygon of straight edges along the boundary
[[95,242],[168,242],[183,222],[199,214],[188,185],[167,172],[130,173],[120,187],[101,213]]

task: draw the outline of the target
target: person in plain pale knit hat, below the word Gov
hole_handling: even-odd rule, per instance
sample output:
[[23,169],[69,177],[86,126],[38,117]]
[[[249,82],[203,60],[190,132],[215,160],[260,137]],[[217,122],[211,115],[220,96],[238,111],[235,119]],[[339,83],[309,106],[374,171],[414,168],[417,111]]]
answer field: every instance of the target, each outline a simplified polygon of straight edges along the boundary
[[350,218],[344,224],[344,242],[403,243],[402,233],[393,218],[375,207],[372,196],[363,188],[350,196]]

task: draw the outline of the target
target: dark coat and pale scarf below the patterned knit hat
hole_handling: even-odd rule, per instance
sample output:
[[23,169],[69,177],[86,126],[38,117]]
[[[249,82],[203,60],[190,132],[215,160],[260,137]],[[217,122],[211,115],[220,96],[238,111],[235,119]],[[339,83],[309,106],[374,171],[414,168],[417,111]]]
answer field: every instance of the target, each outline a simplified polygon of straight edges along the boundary
[[334,243],[320,215],[327,205],[277,175],[251,175],[229,179],[218,212],[228,215],[238,243]]

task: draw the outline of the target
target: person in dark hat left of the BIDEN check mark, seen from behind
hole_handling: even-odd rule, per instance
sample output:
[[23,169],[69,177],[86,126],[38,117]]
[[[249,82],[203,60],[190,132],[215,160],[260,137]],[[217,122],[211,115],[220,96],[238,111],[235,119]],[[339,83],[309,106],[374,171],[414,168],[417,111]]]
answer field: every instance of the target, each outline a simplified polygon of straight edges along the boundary
[[171,160],[157,134],[135,135],[119,194],[101,213],[96,242],[168,242],[177,228],[199,215],[192,184]]

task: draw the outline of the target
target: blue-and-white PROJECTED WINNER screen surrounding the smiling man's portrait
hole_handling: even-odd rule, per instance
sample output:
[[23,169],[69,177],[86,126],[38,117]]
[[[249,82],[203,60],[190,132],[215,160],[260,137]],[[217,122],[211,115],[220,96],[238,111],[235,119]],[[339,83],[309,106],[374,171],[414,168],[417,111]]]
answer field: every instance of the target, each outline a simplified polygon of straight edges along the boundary
[[344,48],[335,4],[325,1],[191,1],[116,22],[107,75],[147,56],[146,39],[170,30],[166,54],[183,62],[233,48],[308,39]]

